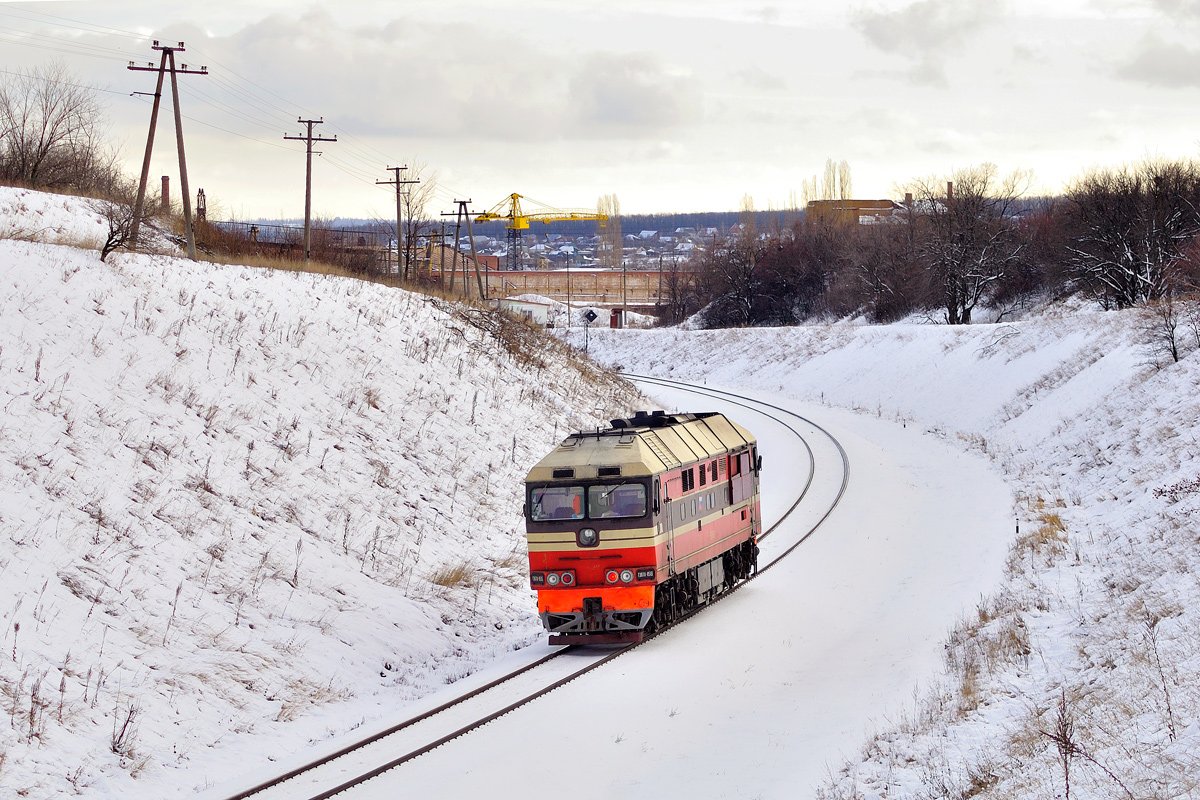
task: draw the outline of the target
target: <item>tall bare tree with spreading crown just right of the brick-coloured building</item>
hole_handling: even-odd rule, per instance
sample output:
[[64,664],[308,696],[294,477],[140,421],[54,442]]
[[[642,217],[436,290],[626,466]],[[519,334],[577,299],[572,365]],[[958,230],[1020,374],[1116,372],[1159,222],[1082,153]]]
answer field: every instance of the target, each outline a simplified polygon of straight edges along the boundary
[[1024,247],[1016,201],[1032,182],[1027,170],[1001,178],[995,164],[980,164],[907,187],[917,204],[911,224],[918,249],[950,325],[968,325],[1016,264]]

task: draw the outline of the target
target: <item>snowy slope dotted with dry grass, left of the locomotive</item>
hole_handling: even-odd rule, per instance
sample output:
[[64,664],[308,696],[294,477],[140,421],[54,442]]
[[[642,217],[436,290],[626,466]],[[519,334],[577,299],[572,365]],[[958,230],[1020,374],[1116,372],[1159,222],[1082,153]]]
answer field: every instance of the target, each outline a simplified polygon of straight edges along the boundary
[[0,192],[0,795],[190,792],[539,638],[521,480],[634,390],[420,295],[41,241],[80,203]]

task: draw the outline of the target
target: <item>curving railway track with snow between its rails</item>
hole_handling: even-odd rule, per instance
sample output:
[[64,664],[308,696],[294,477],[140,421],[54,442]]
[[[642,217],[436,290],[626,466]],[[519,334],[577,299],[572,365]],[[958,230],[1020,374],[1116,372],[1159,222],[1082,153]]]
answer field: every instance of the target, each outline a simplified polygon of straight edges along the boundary
[[395,769],[406,762],[419,758],[498,717],[523,705],[528,705],[593,669],[602,667],[610,661],[641,646],[641,644],[673,630],[676,625],[701,613],[713,603],[731,596],[743,585],[756,579],[760,575],[767,572],[790,555],[828,519],[829,515],[833,513],[834,509],[841,501],[850,481],[850,461],[836,438],[812,420],[788,409],[719,389],[696,386],[649,375],[628,374],[626,378],[636,383],[685,391],[702,397],[710,397],[730,405],[749,409],[775,420],[800,440],[809,459],[808,479],[792,505],[788,506],[774,524],[763,531],[760,540],[766,540],[770,536],[800,507],[800,503],[812,488],[816,474],[816,456],[811,445],[805,434],[798,431],[788,420],[828,438],[835,447],[842,467],[841,481],[835,497],[821,517],[814,524],[809,525],[808,530],[803,531],[794,541],[788,542],[781,552],[776,553],[766,564],[761,565],[756,575],[721,595],[712,603],[691,610],[671,627],[662,628],[648,636],[642,643],[618,648],[563,646],[424,714],[364,736],[359,741],[346,745],[320,758],[300,764],[282,775],[272,776],[234,794],[214,795],[215,798],[220,796],[222,800],[247,800],[250,798],[254,800],[271,800],[272,798],[326,800]]

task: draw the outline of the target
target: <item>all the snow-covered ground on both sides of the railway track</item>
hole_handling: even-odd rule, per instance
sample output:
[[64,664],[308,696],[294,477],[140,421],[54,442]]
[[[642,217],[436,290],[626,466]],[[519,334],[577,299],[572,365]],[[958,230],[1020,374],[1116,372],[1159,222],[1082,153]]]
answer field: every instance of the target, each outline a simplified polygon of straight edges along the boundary
[[[55,243],[101,225],[0,190],[0,796],[263,774],[541,639],[521,477],[643,398],[440,301]],[[1196,796],[1200,354],[1142,327],[592,330],[605,363],[829,425],[847,500],[404,792],[1024,798],[1066,765],[1080,798]]]

